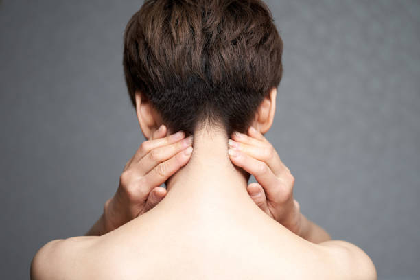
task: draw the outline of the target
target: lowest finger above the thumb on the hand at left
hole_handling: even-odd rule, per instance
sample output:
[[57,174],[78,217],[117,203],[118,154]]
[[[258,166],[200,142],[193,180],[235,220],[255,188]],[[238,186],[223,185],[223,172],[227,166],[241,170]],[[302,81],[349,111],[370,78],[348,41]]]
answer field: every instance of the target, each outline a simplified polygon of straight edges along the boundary
[[[165,181],[183,167],[191,158],[193,148],[189,146],[187,149],[178,152],[175,156],[163,163],[159,163],[148,174],[143,177],[150,187],[156,187],[165,183]],[[145,189],[147,191],[147,189]],[[150,191],[150,189],[148,190]]]

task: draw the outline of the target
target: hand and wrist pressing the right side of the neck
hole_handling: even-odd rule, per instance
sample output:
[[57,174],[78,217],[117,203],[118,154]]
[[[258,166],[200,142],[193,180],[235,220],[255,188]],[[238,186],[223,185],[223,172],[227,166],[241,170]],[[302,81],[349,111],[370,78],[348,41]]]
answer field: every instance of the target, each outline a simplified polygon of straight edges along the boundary
[[253,174],[258,181],[247,187],[254,202],[270,217],[299,235],[301,212],[299,203],[293,198],[294,176],[264,135],[252,126],[248,135],[234,132],[229,139],[229,157],[233,164]]

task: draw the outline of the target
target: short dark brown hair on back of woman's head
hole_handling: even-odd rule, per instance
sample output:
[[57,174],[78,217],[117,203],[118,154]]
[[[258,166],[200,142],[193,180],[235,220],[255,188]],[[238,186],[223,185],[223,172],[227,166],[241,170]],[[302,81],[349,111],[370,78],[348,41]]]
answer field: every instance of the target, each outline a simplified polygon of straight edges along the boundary
[[261,0],[146,0],[126,27],[124,74],[172,132],[245,132],[281,80],[283,43]]

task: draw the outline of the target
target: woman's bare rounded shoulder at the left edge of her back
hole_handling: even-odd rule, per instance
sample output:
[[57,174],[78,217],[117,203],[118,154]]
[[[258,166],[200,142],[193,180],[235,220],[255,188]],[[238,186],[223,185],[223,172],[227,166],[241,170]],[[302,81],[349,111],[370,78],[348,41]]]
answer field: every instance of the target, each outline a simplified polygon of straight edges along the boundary
[[84,253],[99,237],[78,236],[52,240],[45,244],[32,259],[32,280],[67,279],[68,276],[82,279],[79,268]]

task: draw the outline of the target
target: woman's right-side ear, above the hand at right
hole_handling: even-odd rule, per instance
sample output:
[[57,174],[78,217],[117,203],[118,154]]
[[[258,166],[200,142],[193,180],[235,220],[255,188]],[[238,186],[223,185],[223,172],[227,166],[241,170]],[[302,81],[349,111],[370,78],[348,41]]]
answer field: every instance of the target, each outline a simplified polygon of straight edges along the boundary
[[259,105],[257,110],[257,114],[253,121],[253,126],[262,134],[266,133],[272,125],[272,121],[274,120],[274,115],[276,111],[276,96],[277,96],[277,89],[274,87],[270,90],[270,93]]

